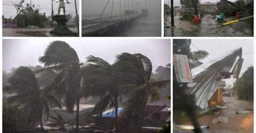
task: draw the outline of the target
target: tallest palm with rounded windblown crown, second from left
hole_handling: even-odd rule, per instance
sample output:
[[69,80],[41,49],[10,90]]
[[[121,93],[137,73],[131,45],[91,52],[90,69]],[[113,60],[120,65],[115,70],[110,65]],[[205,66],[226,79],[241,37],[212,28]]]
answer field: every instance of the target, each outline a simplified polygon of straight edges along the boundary
[[76,51],[64,41],[53,41],[46,48],[44,56],[39,57],[39,62],[44,64],[44,68],[37,72],[46,70],[57,72],[57,76],[48,90],[55,90],[57,94],[62,94],[69,113],[73,113],[76,104],[76,128],[78,129],[83,64],[79,63]]

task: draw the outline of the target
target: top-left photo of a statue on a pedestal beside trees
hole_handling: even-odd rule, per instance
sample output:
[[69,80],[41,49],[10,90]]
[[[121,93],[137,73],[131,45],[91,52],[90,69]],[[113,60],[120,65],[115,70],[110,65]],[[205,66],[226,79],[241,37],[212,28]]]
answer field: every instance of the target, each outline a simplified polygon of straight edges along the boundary
[[2,5],[3,36],[79,36],[77,0],[4,0]]

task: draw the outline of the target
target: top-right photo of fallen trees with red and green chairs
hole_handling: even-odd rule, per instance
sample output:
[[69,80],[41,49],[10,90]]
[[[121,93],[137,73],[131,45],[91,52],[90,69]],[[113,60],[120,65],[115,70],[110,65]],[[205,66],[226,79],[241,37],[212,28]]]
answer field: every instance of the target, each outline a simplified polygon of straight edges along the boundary
[[250,0],[165,0],[164,16],[164,36],[253,36]]

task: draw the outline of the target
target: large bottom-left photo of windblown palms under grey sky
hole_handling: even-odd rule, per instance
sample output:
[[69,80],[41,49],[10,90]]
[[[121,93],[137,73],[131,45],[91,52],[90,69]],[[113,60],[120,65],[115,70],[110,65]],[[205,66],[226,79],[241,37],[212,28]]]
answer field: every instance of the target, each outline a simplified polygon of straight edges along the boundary
[[170,132],[170,39],[3,39],[3,132]]

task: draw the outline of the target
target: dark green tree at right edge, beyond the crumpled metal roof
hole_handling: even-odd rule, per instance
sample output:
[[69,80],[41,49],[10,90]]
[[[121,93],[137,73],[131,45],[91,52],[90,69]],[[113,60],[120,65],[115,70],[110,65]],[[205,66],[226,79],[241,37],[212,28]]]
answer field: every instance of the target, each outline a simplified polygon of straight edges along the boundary
[[253,100],[253,67],[249,67],[235,82],[234,89],[240,99]]

